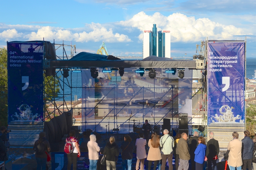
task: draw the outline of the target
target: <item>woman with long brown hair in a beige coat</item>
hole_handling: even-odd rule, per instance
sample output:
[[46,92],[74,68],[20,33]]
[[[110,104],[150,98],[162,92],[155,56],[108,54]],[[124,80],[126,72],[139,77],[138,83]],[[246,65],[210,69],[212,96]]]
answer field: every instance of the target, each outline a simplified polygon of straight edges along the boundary
[[148,141],[149,151],[148,151],[148,169],[151,169],[152,161],[154,161],[154,170],[156,170],[156,166],[159,161],[162,159],[162,155],[160,153],[160,138],[154,132],[151,135],[151,139]]

